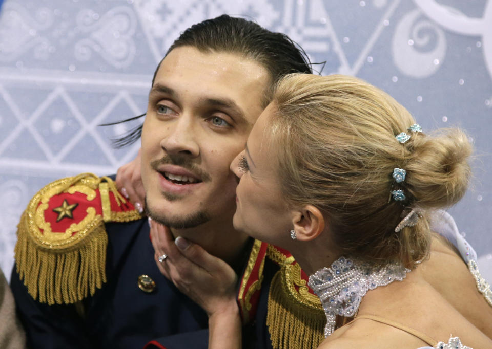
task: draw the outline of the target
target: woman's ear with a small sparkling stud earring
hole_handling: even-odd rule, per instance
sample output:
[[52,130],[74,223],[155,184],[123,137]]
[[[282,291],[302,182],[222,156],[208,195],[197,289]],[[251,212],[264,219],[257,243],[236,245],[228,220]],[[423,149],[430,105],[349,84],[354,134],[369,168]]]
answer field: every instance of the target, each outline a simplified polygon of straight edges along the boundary
[[311,241],[325,228],[323,214],[313,205],[306,205],[292,213],[292,223],[299,241]]

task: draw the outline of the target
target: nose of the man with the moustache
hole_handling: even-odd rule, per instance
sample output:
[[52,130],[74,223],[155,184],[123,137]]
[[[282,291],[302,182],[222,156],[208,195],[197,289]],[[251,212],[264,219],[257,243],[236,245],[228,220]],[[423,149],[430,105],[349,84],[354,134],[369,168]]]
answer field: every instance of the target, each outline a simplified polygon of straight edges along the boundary
[[197,143],[197,125],[192,116],[181,117],[169,125],[169,132],[160,141],[160,146],[168,154],[182,154],[197,157],[200,147]]

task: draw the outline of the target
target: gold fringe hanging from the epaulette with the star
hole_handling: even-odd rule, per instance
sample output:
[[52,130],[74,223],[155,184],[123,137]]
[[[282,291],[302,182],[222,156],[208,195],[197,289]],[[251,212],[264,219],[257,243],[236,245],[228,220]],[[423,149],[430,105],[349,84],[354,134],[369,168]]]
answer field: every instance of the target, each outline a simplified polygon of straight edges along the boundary
[[56,251],[36,244],[29,234],[28,216],[23,214],[14,251],[17,273],[34,299],[50,305],[70,304],[103,286],[108,236],[101,217],[91,225],[76,248]]

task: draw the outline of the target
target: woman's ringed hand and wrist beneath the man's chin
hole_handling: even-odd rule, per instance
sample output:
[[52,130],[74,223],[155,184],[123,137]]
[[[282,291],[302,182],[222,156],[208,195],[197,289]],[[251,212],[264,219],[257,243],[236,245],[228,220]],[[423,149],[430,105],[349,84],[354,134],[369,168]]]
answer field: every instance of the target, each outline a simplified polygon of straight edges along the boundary
[[[209,348],[240,348],[241,318],[236,303],[237,275],[222,259],[151,219],[150,235],[160,272],[209,316]],[[167,257],[160,262],[159,256]]]

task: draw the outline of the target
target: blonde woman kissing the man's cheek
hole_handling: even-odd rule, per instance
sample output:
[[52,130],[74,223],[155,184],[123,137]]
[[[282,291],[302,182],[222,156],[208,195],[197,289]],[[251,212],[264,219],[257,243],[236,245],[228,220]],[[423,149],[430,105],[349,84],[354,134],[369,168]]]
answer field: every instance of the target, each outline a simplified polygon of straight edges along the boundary
[[[357,78],[290,75],[231,165],[234,227],[289,250],[311,275],[327,318],[320,348],[492,347],[490,289],[480,294],[457,250],[429,229],[433,210],[464,195],[470,153],[460,130],[425,135]],[[162,253],[199,251],[155,224],[152,234]],[[208,257],[190,279],[172,258],[159,267],[214,319],[212,347],[237,343],[233,288],[209,289],[212,277],[232,285],[227,265]],[[337,316],[350,322],[337,329]]]

